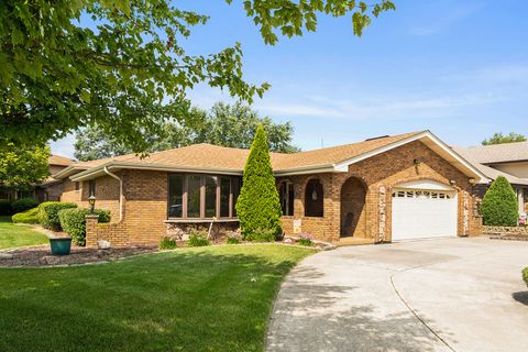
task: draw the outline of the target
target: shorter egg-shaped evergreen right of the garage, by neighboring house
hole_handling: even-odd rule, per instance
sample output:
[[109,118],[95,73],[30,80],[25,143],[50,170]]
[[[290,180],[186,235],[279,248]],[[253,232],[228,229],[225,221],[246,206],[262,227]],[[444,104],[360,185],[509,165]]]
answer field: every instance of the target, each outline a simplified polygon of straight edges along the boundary
[[519,218],[519,205],[514,188],[504,176],[498,176],[482,200],[484,224],[515,227]]

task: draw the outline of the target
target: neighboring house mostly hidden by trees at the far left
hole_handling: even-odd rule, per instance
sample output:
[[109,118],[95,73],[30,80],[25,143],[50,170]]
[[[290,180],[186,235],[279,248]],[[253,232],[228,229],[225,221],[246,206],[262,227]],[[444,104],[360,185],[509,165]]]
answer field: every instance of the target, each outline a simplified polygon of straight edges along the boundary
[[[47,164],[50,165],[50,174],[54,175],[67,166],[72,165],[74,161],[61,155],[51,155],[47,158]],[[28,190],[10,190],[10,189],[0,189],[0,199],[20,199],[20,198],[35,198],[40,202],[47,200],[59,200],[61,194],[63,193],[63,182],[55,179],[53,177],[47,177],[44,182],[38,185],[34,185],[31,189]]]

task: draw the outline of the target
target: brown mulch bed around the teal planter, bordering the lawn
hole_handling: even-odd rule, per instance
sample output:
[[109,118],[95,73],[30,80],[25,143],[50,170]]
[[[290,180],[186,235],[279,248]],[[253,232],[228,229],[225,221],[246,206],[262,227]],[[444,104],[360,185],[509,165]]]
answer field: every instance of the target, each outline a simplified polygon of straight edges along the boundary
[[156,252],[157,246],[129,246],[110,250],[97,248],[72,246],[69,255],[52,255],[50,245],[40,245],[25,249],[2,251],[0,253],[0,267],[13,266],[51,266],[105,263],[125,256]]

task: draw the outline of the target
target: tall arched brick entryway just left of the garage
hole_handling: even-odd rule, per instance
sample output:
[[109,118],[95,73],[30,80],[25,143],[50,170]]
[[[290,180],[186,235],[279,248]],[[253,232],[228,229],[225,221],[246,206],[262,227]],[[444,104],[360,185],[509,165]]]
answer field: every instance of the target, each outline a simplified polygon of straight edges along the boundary
[[366,187],[358,177],[341,187],[341,237],[366,237]]

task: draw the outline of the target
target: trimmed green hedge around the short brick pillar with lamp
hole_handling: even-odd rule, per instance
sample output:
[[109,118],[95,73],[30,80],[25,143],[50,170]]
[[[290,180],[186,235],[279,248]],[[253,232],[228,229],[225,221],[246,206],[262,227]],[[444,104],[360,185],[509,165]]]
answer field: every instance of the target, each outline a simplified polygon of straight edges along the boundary
[[[72,241],[77,245],[86,245],[86,216],[90,209],[72,208],[58,211],[58,219],[63,230],[72,237]],[[95,213],[99,216],[99,222],[110,222],[110,211],[96,209]]]

